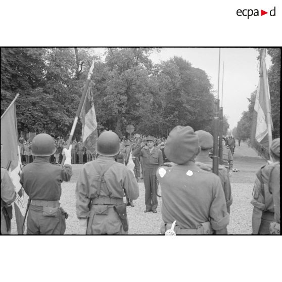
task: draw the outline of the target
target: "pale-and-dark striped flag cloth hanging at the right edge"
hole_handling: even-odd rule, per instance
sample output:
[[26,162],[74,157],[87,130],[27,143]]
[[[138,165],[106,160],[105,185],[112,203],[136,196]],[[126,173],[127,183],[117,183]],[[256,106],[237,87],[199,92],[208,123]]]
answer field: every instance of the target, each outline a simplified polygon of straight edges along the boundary
[[265,148],[269,148],[268,135],[270,135],[272,139],[271,128],[273,128],[273,125],[270,109],[271,106],[267,70],[265,64],[265,49],[263,49],[260,56],[260,74],[254,110],[256,112],[255,138],[257,142]]

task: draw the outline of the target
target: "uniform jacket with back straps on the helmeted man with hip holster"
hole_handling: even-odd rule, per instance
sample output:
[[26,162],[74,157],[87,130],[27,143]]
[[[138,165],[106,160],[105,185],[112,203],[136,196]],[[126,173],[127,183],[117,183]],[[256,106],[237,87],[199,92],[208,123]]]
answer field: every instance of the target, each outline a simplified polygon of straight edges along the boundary
[[[110,197],[123,199],[125,192],[129,199],[138,198],[139,188],[133,173],[125,165],[115,162],[113,157],[99,156],[96,160],[84,164],[80,171],[75,190],[77,218],[85,219],[89,216],[89,203],[92,198],[98,196],[101,170],[110,162],[113,162],[113,165],[104,174]],[[101,188],[100,195],[107,196],[107,191]]]

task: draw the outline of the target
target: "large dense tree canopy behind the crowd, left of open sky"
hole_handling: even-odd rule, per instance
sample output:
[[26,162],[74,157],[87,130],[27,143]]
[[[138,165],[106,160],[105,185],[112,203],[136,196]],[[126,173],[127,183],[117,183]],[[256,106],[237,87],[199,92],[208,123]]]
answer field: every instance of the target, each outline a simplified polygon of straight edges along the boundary
[[[205,71],[179,57],[153,64],[152,51],[108,48],[102,60],[91,48],[3,48],[1,112],[20,93],[20,130],[67,137],[94,60],[91,80],[99,128],[120,136],[128,124],[138,133],[159,136],[176,125],[212,132],[214,96]],[[226,117],[224,122],[227,131]],[[76,134],[81,134],[81,124]]]

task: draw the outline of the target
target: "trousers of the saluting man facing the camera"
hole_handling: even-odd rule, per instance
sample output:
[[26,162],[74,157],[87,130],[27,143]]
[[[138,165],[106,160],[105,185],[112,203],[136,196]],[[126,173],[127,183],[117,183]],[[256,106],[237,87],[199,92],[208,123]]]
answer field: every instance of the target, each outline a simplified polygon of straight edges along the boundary
[[156,168],[144,168],[143,177],[145,184],[145,205],[146,210],[156,210],[158,207],[158,198],[157,198],[157,176]]

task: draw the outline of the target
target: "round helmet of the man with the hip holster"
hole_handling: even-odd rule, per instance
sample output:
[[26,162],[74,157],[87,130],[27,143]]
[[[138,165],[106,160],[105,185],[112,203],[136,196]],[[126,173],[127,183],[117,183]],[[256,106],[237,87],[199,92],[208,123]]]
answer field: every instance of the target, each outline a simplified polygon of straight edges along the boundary
[[120,151],[119,137],[113,131],[104,131],[97,140],[97,154],[113,157]]

